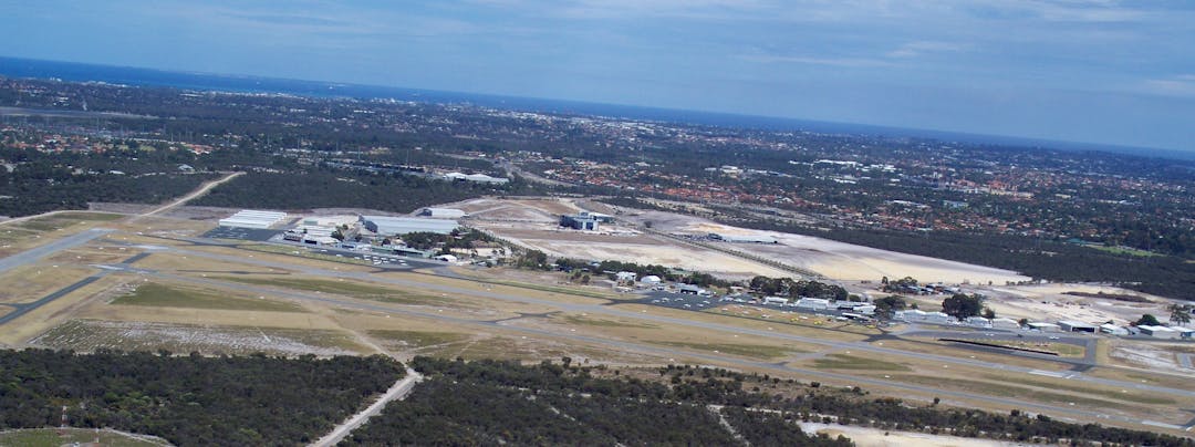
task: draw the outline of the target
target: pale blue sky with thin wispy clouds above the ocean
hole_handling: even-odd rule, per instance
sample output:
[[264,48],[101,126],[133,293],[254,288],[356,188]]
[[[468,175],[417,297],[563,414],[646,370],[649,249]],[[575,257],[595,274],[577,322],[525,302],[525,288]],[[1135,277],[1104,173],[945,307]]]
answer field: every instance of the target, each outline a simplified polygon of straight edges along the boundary
[[0,0],[0,55],[1195,152],[1195,1]]

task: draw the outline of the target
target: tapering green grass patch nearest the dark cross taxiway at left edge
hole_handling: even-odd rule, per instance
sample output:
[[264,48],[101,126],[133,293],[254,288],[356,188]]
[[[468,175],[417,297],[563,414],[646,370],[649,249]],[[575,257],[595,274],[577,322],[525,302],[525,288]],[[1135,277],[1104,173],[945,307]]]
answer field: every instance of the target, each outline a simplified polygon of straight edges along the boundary
[[305,312],[302,307],[290,302],[231,298],[190,288],[170,287],[159,283],[143,283],[128,295],[112,300],[115,305],[212,308],[228,311],[265,311],[265,312]]

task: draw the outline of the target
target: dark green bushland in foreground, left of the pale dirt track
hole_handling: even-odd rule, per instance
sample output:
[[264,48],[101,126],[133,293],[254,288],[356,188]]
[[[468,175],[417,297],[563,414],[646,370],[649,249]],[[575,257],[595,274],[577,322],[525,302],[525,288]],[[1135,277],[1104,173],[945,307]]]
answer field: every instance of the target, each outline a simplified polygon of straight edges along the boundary
[[179,446],[307,443],[404,375],[381,356],[0,350],[0,429],[67,424]]

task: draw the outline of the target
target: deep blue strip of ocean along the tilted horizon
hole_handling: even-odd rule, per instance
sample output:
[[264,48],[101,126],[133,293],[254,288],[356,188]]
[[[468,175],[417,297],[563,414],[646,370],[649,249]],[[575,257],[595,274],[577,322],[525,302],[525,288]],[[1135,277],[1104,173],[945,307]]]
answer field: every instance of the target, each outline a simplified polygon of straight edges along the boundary
[[979,135],[926,129],[905,129],[871,124],[834,123],[810,120],[752,116],[693,110],[660,109],[635,105],[587,103],[560,99],[521,98],[483,93],[446,92],[404,87],[385,87],[327,81],[226,75],[210,73],[170,72],[151,68],[115,67],[76,62],[57,62],[0,56],[0,76],[61,79],[65,81],[98,81],[133,86],[157,86],[184,90],[226,91],[240,93],[283,93],[325,98],[391,98],[419,103],[467,103],[495,109],[522,111],[596,115],[630,120],[648,120],[727,128],[749,128],[773,131],[813,131],[823,134],[871,135],[885,137],[929,139],[944,142],[964,142],[1022,148],[1061,151],[1098,151],[1139,157],[1159,157],[1195,160],[1195,152],[1099,145],[1068,141],[1037,140],[1016,136]]

